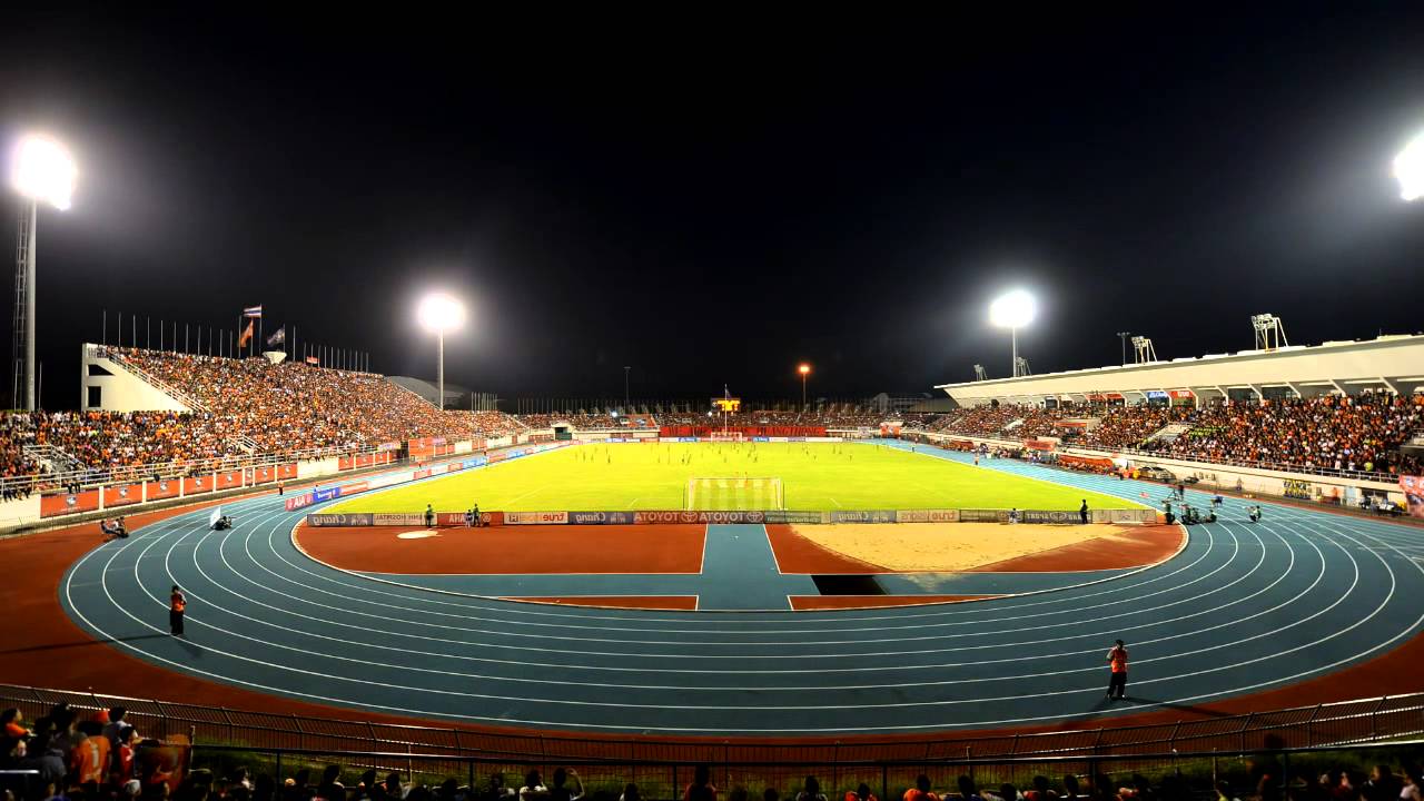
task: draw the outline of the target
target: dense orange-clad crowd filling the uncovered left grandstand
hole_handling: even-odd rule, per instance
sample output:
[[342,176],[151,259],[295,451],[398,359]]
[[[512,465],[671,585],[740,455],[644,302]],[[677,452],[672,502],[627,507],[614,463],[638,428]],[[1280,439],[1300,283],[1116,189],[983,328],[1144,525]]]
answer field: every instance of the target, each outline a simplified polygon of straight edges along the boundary
[[[441,412],[373,373],[263,358],[111,351],[191,412],[14,412],[0,416],[0,475],[36,475],[26,445],[51,445],[85,467],[154,466],[309,449],[362,449],[417,436],[497,438],[523,426],[503,412]],[[60,469],[56,466],[56,469]],[[13,492],[24,492],[16,487]]]

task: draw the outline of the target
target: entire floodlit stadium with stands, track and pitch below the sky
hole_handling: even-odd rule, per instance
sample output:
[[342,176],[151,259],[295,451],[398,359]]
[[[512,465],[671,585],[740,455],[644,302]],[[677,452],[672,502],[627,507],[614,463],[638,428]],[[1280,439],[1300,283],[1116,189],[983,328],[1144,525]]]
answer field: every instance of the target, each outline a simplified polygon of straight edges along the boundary
[[1034,373],[1072,309],[1005,285],[953,325],[1007,378],[778,396],[748,336],[745,375],[511,399],[446,381],[459,288],[343,305],[352,349],[202,296],[236,326],[105,306],[46,408],[37,228],[83,181],[14,158],[4,801],[1418,800],[1424,334],[1206,315],[1252,346]]

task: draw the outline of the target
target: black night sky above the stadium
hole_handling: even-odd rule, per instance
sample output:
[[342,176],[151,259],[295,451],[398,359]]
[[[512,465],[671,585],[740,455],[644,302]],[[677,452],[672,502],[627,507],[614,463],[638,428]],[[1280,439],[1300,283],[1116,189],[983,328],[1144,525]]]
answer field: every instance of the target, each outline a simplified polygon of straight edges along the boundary
[[1253,312],[1293,343],[1418,331],[1424,204],[1390,177],[1424,130],[1418,4],[1142,6],[10,11],[0,133],[81,171],[40,222],[46,405],[78,402],[104,308],[261,302],[433,375],[429,288],[471,305],[449,379],[501,395],[621,395],[622,365],[646,398],[795,396],[800,359],[834,396],[1004,375],[985,306],[1014,285],[1035,372],[1116,362],[1118,331],[1249,348]]

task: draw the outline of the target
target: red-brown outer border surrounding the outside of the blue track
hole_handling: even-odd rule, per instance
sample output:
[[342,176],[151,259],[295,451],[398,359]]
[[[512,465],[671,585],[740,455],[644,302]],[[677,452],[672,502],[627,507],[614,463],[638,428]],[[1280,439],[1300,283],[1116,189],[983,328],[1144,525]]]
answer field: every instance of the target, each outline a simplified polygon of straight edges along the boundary
[[[148,515],[131,515],[131,529],[185,512],[169,509]],[[343,720],[373,720],[377,723],[431,723],[420,718],[400,718],[337,707],[292,701],[251,693],[225,684],[215,684],[169,673],[148,663],[91,640],[58,604],[58,583],[74,560],[101,542],[97,523],[57,532],[28,534],[0,540],[0,564],[6,570],[4,616],[0,616],[0,681],[56,687],[63,690],[94,690],[117,696],[161,696],[161,700],[211,707],[268,711],[279,714],[335,717]],[[775,540],[773,540],[775,542]],[[161,623],[159,623],[161,624]],[[1393,651],[1364,664],[1330,676],[1303,681],[1280,690],[1257,693],[1200,707],[1176,707],[1156,713],[1092,720],[1064,721],[1049,727],[1010,730],[1010,733],[1095,728],[1096,725],[1135,725],[1200,720],[1219,714],[1276,710],[1286,707],[1344,701],[1367,696],[1404,694],[1418,691],[1417,666],[1424,663],[1424,637],[1415,637]],[[1129,687],[1131,693],[1131,687]],[[434,723],[434,725],[449,725]],[[477,727],[466,727],[477,728]],[[481,731],[521,731],[501,727],[478,727]],[[1004,733],[1004,731],[1000,731]],[[967,735],[968,733],[956,733]],[[977,731],[974,734],[990,734]],[[598,738],[598,735],[584,735]],[[904,740],[923,740],[924,734]],[[628,740],[628,737],[617,737]],[[639,740],[658,740],[638,737]],[[719,741],[722,738],[718,738]],[[840,740],[852,740],[842,735]],[[876,737],[876,740],[894,740]],[[795,740],[783,740],[792,743]]]

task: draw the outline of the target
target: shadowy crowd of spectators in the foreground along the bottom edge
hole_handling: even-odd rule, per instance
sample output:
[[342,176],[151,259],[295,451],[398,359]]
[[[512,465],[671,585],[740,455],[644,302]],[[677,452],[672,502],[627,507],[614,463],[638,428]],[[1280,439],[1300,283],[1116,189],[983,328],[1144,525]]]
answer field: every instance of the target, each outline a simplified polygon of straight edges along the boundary
[[[122,708],[81,720],[75,710],[60,704],[24,725],[6,710],[0,733],[0,771],[38,771],[36,780],[0,775],[3,801],[642,801],[644,791],[634,782],[605,782],[588,787],[578,771],[558,767],[548,780],[531,768],[523,778],[510,781],[503,770],[490,771],[468,784],[446,778],[424,784],[414,777],[376,770],[357,774],[340,765],[328,765],[319,774],[312,768],[289,768],[290,775],[252,775],[245,767],[229,768],[216,777],[206,768],[187,772],[172,790],[175,777],[145,765],[135,758],[141,748],[158,745],[142,740],[124,721]],[[1294,772],[1287,771],[1274,754],[1247,755],[1242,763],[1209,774],[1162,771],[1156,780],[1139,772],[1112,777],[1106,772],[1065,772],[1061,778],[1035,775],[1024,785],[1011,782],[980,785],[970,774],[957,778],[948,767],[917,775],[910,787],[887,787],[889,798],[899,801],[1424,801],[1420,767],[1403,760],[1398,770],[1381,764],[1377,754],[1360,753],[1357,758],[1340,754],[1321,755]],[[1374,757],[1374,758],[1371,758]],[[1307,757],[1309,760],[1309,757]],[[1368,760],[1368,761],[1366,761]],[[1373,764],[1371,764],[1373,763]],[[1101,763],[1099,763],[1101,764]],[[281,771],[281,763],[278,763]],[[983,771],[985,768],[980,768]],[[991,767],[988,772],[997,772]],[[936,778],[931,778],[931,774]],[[745,775],[745,774],[743,774]],[[854,775],[854,774],[852,774]],[[887,774],[889,775],[889,774]],[[938,780],[938,781],[937,781]],[[785,781],[785,780],[783,780]],[[860,781],[822,787],[816,775],[793,780],[790,787],[770,782],[760,790],[736,784],[718,788],[709,765],[696,765],[692,780],[665,790],[666,797],[682,801],[880,801],[869,784]],[[857,780],[849,780],[857,781]]]

